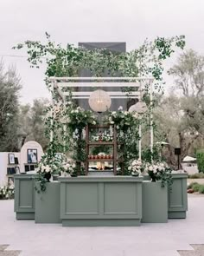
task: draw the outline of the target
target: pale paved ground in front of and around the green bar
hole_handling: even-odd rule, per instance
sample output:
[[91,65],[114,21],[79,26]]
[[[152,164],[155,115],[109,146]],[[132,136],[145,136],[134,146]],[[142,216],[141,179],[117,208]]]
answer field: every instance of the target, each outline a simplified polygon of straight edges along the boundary
[[[190,195],[188,218],[137,227],[62,227],[15,220],[13,200],[0,200],[0,245],[20,256],[179,256],[204,244],[204,197]],[[181,250],[181,254],[177,252]],[[186,250],[192,250],[186,252]],[[4,252],[6,252],[4,251]],[[184,254],[183,254],[184,253]]]

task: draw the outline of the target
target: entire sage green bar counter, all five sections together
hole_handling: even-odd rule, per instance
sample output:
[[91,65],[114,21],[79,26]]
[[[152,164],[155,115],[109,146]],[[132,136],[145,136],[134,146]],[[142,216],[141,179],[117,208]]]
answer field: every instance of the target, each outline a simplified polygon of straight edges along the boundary
[[59,177],[38,194],[34,174],[15,175],[16,220],[62,226],[140,226],[186,218],[187,174],[173,174],[172,192],[132,176]]

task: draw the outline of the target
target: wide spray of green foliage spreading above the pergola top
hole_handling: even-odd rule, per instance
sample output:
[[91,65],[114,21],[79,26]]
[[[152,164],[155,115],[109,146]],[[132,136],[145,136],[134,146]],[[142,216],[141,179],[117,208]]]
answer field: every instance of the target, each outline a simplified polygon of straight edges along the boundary
[[[13,49],[27,49],[31,68],[39,68],[43,57],[47,64],[47,78],[78,76],[80,69],[89,69],[92,76],[102,76],[108,71],[109,75],[153,76],[156,80],[162,81],[163,61],[170,57],[176,48],[183,49],[185,45],[184,36],[157,37],[152,42],[144,41],[138,49],[118,53],[107,49],[76,48],[71,44],[62,48],[61,44],[51,41],[48,33],[46,38],[45,44],[27,40],[18,43]],[[48,79],[46,81],[49,87]],[[155,87],[161,90],[159,83],[156,83]]]

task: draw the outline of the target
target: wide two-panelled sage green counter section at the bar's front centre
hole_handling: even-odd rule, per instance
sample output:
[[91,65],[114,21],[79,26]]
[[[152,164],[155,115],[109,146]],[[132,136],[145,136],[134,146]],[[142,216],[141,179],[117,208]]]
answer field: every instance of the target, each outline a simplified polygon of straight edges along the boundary
[[62,226],[140,226],[142,177],[66,177],[61,182]]

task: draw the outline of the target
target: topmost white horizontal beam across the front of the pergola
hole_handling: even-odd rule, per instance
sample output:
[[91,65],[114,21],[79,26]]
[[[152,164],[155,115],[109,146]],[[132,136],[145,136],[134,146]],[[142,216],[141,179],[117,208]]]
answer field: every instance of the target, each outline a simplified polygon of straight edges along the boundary
[[98,81],[104,81],[104,80],[136,80],[136,81],[141,81],[141,80],[149,80],[153,81],[154,77],[49,77],[49,81],[68,81],[68,80],[98,80]]

